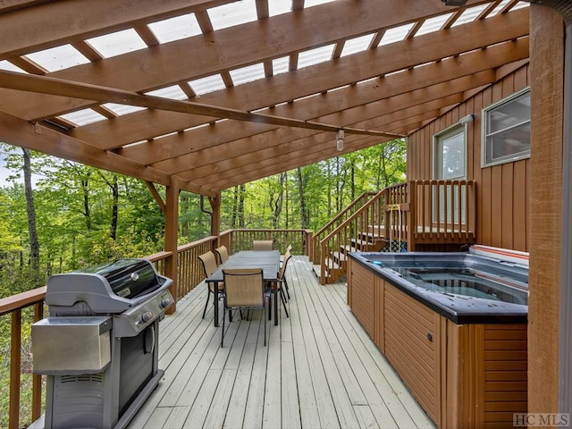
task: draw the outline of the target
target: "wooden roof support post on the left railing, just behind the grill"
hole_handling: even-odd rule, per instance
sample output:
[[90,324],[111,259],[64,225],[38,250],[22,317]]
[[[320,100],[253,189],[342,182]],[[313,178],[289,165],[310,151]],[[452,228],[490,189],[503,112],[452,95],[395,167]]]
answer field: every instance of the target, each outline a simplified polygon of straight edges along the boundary
[[172,285],[169,288],[175,304],[167,310],[167,314],[171,315],[177,309],[177,300],[179,299],[178,280],[179,273],[177,269],[177,248],[179,235],[179,183],[177,179],[172,178],[171,184],[166,188],[166,203],[164,212],[164,249],[171,253],[164,262],[164,274],[172,279]]

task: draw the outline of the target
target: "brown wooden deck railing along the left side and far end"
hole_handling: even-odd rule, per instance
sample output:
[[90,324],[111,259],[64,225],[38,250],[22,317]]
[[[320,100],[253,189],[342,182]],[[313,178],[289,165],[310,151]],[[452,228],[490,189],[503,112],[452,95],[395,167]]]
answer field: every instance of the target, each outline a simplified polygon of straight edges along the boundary
[[[175,299],[181,299],[205,279],[198,255],[224,244],[231,252],[252,248],[252,240],[274,240],[275,248],[282,251],[292,244],[295,254],[307,255],[312,246],[312,232],[307,230],[230,230],[220,237],[206,237],[178,248],[177,290]],[[145,259],[151,261],[159,273],[164,273],[164,262],[171,252],[159,252]],[[22,362],[29,362],[29,348],[22,351],[22,341],[29,343],[29,326],[44,317],[46,287],[22,292],[0,299],[0,316],[12,317],[10,328],[10,405],[7,427],[19,429],[38,419],[42,414],[42,376],[31,374],[31,367],[22,374]],[[25,333],[24,333],[25,332]],[[31,362],[29,362],[31,363]],[[31,404],[28,415],[21,415],[22,377],[31,377]],[[4,427],[3,421],[0,426]]]

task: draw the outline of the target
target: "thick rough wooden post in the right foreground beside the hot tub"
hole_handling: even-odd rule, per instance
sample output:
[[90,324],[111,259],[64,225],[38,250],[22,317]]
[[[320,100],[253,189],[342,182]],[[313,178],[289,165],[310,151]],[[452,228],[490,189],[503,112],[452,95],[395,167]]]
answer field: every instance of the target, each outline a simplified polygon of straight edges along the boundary
[[530,13],[528,413],[557,413],[564,25],[551,8],[532,4]]

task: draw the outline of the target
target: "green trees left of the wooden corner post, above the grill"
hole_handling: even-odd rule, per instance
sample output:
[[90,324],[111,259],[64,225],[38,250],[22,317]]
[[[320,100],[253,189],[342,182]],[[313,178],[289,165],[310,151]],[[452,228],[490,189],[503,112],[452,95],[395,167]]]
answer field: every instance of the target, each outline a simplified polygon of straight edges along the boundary
[[[0,146],[13,170],[0,188],[0,287],[3,295],[45,284],[53,273],[118,257],[142,257],[163,248],[164,216],[144,182],[63,159],[32,154],[34,205],[40,243],[39,283],[10,282],[29,264],[28,214],[21,185],[21,153]],[[118,199],[112,185],[117,177]],[[117,208],[115,239],[112,214]]]

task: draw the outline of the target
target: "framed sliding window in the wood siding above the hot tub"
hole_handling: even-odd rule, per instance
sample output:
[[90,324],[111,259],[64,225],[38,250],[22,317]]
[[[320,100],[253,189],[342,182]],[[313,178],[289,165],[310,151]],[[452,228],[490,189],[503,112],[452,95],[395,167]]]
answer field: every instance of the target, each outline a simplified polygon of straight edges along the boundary
[[529,88],[483,109],[483,139],[483,167],[530,156]]

